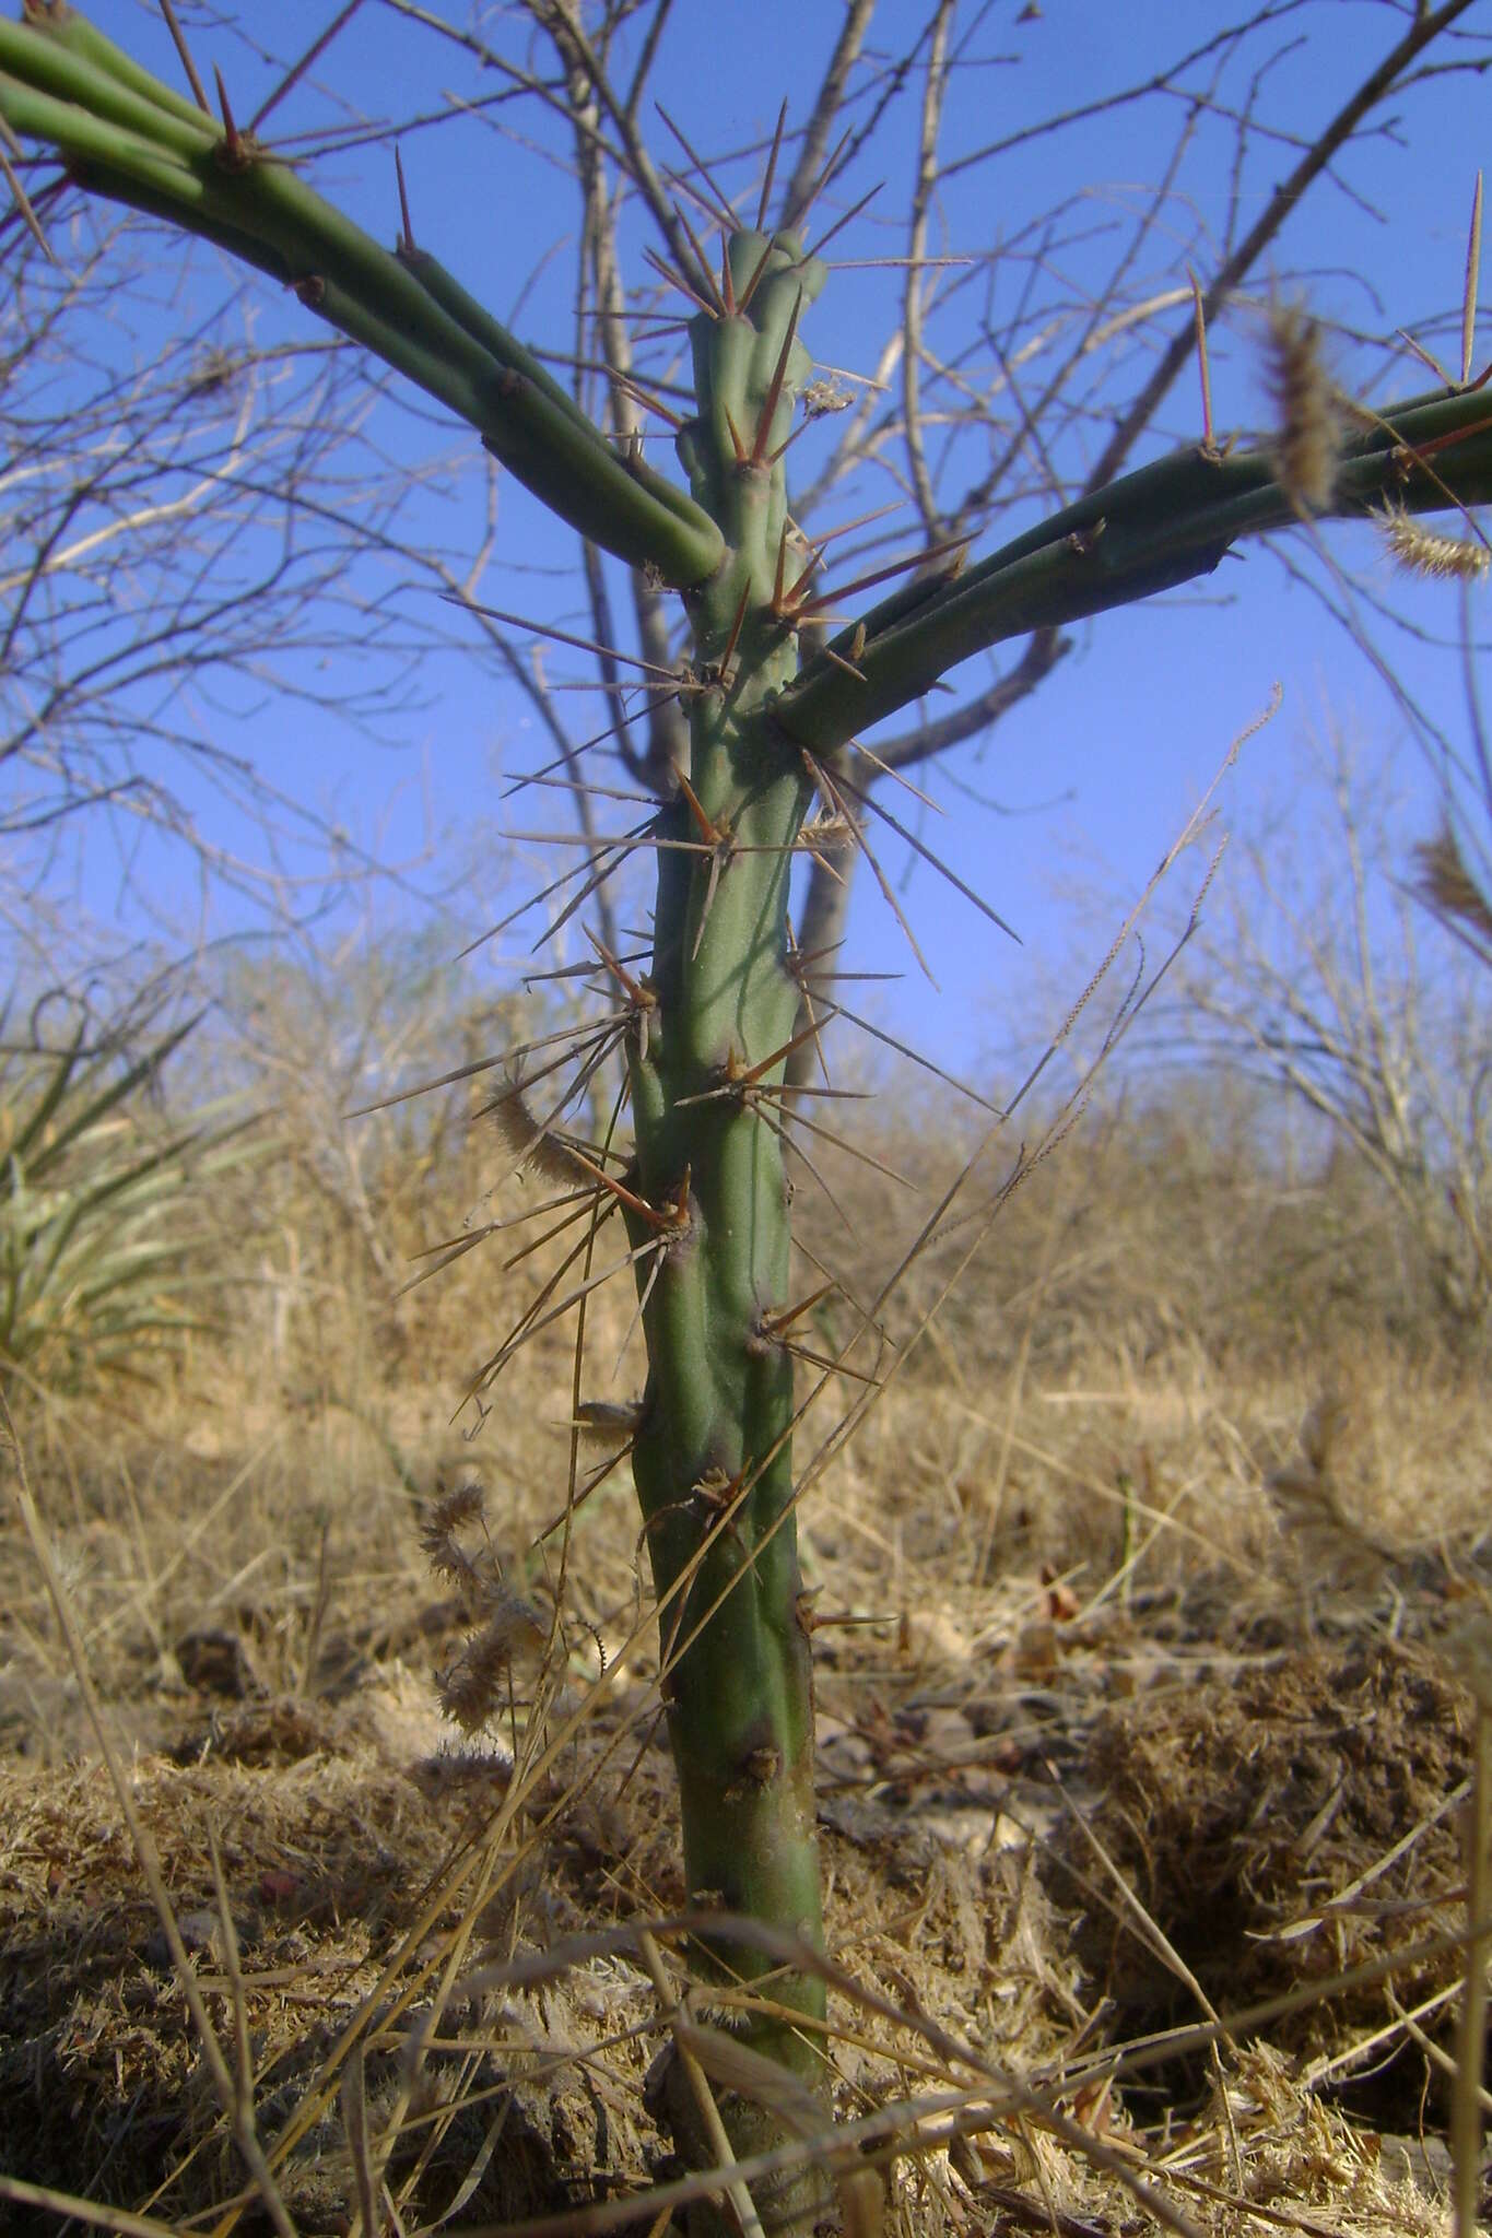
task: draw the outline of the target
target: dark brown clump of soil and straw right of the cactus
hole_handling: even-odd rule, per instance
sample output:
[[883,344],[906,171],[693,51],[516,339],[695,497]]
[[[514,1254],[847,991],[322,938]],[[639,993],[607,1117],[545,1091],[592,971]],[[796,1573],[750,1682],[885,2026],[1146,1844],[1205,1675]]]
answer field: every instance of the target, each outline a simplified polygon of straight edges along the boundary
[[[1389,1996],[1452,1992],[1461,1952],[1434,1945],[1463,1920],[1472,1717],[1427,1649],[1389,1640],[1105,1708],[1074,1779],[1089,1831],[1069,1817],[1051,1858],[1067,1900],[1089,1891],[1078,1952],[1118,2032],[1197,2019],[1181,1969],[1224,2014],[1275,2001],[1268,2037],[1304,2063],[1389,2023]],[[1389,1956],[1391,1990],[1371,1972]]]

